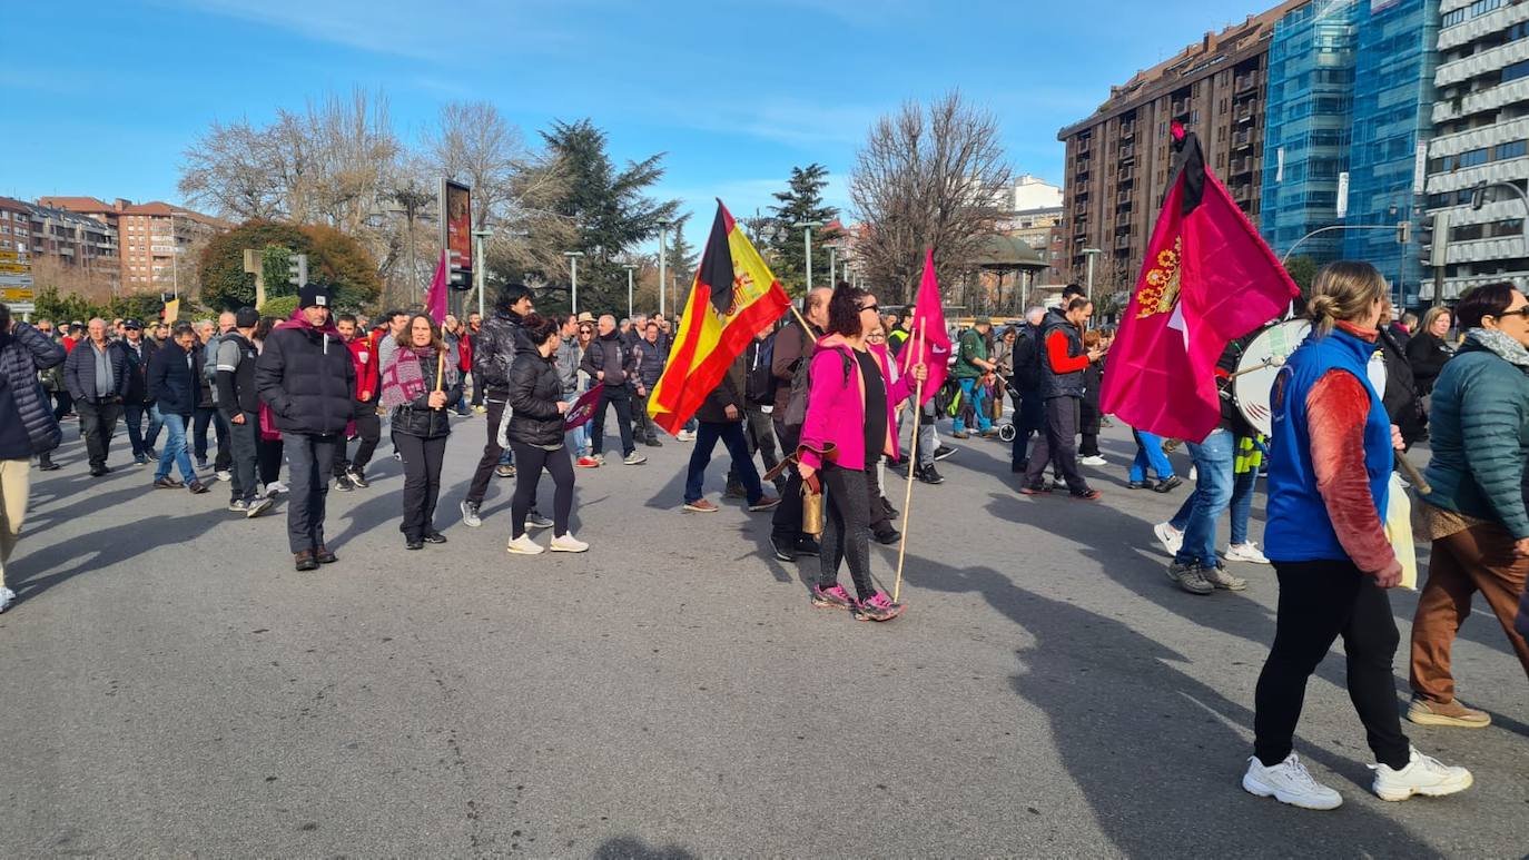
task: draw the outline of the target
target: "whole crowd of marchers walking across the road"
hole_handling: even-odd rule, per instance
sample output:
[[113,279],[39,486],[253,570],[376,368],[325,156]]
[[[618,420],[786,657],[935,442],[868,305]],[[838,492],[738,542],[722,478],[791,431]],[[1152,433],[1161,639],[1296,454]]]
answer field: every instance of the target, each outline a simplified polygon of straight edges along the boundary
[[[122,423],[131,463],[156,464],[153,487],[202,495],[226,483],[229,510],[245,518],[271,510],[284,493],[300,571],[338,561],[324,532],[327,492],[372,486],[367,469],[384,426],[404,470],[407,550],[446,542],[437,501],[453,419],[485,417],[460,519],[482,527],[494,477],[514,478],[506,525],[514,554],[589,550],[572,532],[573,489],[578,469],[618,460],[605,457],[607,429],[624,466],[647,463],[639,446],[662,446],[648,419],[676,335],[662,315],[544,316],[523,286],[506,287],[488,319],[451,316],[443,325],[390,312],[373,327],[335,316],[330,302],[310,284],[281,321],[240,309],[197,324],[55,327],[5,312],[0,611],[15,599],[3,562],[26,513],[28,472],[34,458],[41,470],[60,467],[61,422],[76,422],[95,478],[112,474]],[[812,290],[798,315],[757,333],[676,434],[693,445],[676,504],[688,513],[720,510],[705,495],[705,475],[722,441],[729,455],[723,496],[771,515],[777,559],[818,559],[810,603],[859,620],[896,619],[904,606],[875,587],[868,544],[901,538],[887,472],[945,481],[937,463],[956,449],[940,441],[942,422],[953,440],[1005,440],[1015,490],[1037,503],[1057,490],[1102,498],[1093,483],[1110,464],[1098,440],[1110,420],[1099,391],[1112,331],[1093,324],[1095,310],[1086,290],[1067,287],[1050,307],[1008,324],[974,318],[951,331],[950,380],[919,403],[911,393],[928,368],[902,354],[911,315],[882,315],[873,293],[849,284]],[[1306,680],[1339,635],[1350,695],[1379,762],[1375,791],[1390,800],[1460,791],[1469,773],[1410,745],[1390,692],[1399,642],[1385,590],[1398,584],[1401,564],[1382,525],[1388,480],[1398,452],[1430,441],[1420,538],[1433,542],[1433,558],[1413,625],[1405,715],[1425,726],[1486,726],[1489,715],[1456,698],[1449,646],[1480,593],[1529,674],[1529,299],[1506,284],[1477,287],[1453,310],[1398,321],[1373,267],[1336,263],[1318,275],[1306,315],[1313,333],[1281,373],[1272,438],[1248,423],[1229,385],[1245,338],[1226,347],[1217,368],[1217,426],[1199,440],[1130,428],[1136,451],[1121,460],[1119,484],[1177,490],[1185,478],[1170,454],[1182,445],[1193,487],[1154,529],[1171,556],[1168,579],[1209,596],[1248,588],[1228,562],[1274,567],[1280,609],[1258,680],[1248,791],[1309,808],[1341,803],[1292,748]],[[1364,376],[1375,353],[1387,368],[1381,391]],[[567,423],[576,403],[583,420]],[[553,484],[550,518],[537,507],[543,472]],[[1261,477],[1264,548],[1249,533]],[[812,498],[824,500],[816,529],[806,510]],[[1231,525],[1225,550],[1217,541],[1223,515]],[[538,529],[552,530],[550,542],[532,539]],[[841,567],[853,593],[838,582]]]

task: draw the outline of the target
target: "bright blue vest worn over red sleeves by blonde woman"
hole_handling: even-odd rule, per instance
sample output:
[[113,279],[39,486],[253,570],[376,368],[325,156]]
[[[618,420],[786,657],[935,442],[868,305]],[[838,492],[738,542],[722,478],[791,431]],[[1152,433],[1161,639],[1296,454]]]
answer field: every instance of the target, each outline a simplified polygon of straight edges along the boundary
[[1385,518],[1385,495],[1391,477],[1391,420],[1370,383],[1365,365],[1376,345],[1335,328],[1326,338],[1307,338],[1290,354],[1274,393],[1274,441],[1269,448],[1269,524],[1263,532],[1264,554],[1281,562],[1342,561],[1349,558],[1321,493],[1312,467],[1312,438],[1307,431],[1306,397],[1330,370],[1352,373],[1370,396],[1364,423],[1364,470],[1370,481],[1375,509]]

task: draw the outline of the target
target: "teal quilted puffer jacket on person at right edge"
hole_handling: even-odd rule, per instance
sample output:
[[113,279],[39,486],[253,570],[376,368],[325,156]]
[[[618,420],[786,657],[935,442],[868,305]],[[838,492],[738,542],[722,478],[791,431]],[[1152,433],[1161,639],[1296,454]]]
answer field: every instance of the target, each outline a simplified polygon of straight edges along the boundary
[[1529,458],[1529,376],[1466,345],[1443,367],[1428,420],[1433,461],[1427,501],[1501,524],[1529,538],[1524,460]]

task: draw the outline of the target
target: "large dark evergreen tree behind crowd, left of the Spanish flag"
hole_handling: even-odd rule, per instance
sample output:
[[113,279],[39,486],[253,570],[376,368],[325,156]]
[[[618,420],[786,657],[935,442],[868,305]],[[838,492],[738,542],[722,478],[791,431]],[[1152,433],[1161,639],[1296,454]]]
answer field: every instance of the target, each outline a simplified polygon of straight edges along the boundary
[[[578,261],[579,309],[624,312],[627,272],[621,264],[628,249],[656,237],[659,223],[673,220],[679,208],[674,200],[661,203],[645,194],[664,177],[664,153],[616,170],[605,153],[605,133],[589,119],[553,122],[541,137],[567,177],[561,199],[552,206],[578,231],[578,246],[567,251],[584,252]],[[561,283],[550,286],[552,290],[567,292],[567,273],[553,281]],[[550,304],[558,306],[557,299]]]

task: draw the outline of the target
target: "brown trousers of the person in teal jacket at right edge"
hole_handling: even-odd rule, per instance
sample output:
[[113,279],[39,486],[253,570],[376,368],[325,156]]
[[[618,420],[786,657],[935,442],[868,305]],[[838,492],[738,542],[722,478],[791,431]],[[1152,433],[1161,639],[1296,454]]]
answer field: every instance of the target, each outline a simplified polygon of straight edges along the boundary
[[1529,645],[1514,631],[1529,559],[1514,554],[1514,539],[1501,525],[1475,525],[1434,541],[1428,585],[1413,619],[1413,692],[1437,703],[1454,701],[1449,646],[1471,614],[1480,591],[1529,675]]

